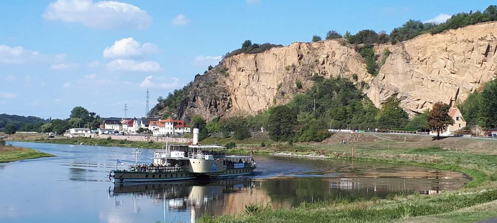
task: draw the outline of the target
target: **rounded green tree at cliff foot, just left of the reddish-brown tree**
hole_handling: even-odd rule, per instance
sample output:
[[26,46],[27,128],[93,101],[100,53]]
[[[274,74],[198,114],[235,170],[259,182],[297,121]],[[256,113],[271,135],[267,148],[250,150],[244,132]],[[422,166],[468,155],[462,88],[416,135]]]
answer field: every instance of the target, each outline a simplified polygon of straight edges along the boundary
[[409,121],[409,115],[400,107],[401,101],[392,95],[387,102],[381,106],[378,114],[378,125],[380,128],[403,128]]

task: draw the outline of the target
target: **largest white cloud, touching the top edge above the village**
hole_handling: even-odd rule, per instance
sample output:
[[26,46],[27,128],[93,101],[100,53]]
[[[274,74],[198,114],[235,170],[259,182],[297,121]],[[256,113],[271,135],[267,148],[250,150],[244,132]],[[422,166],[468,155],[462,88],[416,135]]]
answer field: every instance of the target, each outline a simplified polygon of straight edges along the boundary
[[142,29],[152,22],[145,10],[119,1],[57,0],[48,5],[43,17],[100,29]]

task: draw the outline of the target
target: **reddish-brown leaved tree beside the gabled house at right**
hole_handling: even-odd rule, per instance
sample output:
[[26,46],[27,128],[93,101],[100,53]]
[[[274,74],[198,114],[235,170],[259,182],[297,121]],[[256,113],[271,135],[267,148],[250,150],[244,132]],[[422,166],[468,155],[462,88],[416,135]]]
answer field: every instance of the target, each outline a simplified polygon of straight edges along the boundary
[[437,139],[440,139],[441,131],[445,131],[449,125],[454,124],[454,119],[449,115],[449,109],[449,105],[437,102],[428,112],[428,126],[431,131],[437,133]]

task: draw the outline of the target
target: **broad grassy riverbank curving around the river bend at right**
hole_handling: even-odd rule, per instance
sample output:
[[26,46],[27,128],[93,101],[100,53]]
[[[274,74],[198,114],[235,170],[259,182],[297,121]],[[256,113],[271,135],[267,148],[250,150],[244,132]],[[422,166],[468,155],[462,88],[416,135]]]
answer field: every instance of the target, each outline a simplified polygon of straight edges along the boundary
[[[497,216],[497,147],[494,141],[447,138],[396,140],[358,144],[274,144],[238,149],[302,157],[375,161],[462,171],[472,181],[440,195],[408,195],[370,201],[326,201],[291,209],[248,204],[246,213],[204,216],[199,222],[475,222]],[[399,136],[395,136],[399,138]],[[406,142],[404,142],[406,140]],[[352,158],[352,146],[354,157]]]

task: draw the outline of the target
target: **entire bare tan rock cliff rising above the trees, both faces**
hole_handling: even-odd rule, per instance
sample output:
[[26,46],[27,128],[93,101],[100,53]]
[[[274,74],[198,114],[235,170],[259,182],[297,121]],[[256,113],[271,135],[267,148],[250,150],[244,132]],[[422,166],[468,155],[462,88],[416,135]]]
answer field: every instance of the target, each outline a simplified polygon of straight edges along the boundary
[[[389,49],[378,75],[366,70],[356,46],[343,39],[293,43],[257,54],[223,59],[187,85],[176,116],[248,115],[285,104],[312,86],[312,77],[350,78],[381,107],[391,95],[410,114],[438,101],[454,104],[497,76],[497,22],[440,34],[423,34],[396,45],[375,46],[378,62]],[[297,87],[300,82],[302,87]],[[154,111],[160,114],[160,111]]]

